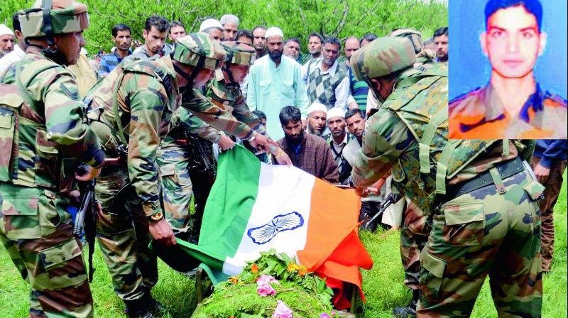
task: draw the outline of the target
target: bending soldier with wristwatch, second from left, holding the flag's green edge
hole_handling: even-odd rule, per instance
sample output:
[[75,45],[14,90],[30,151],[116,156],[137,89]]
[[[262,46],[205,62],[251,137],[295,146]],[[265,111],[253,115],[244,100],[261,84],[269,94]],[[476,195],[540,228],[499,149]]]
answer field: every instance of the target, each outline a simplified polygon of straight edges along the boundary
[[[148,242],[153,238],[158,243],[155,248],[175,244],[173,231],[163,218],[155,158],[180,104],[209,124],[268,148],[265,137],[206,103],[207,99],[193,90],[210,79],[225,56],[223,48],[207,34],[193,33],[178,38],[172,57],[119,65],[85,99],[91,109],[92,128],[107,158],[119,157],[121,147],[128,150],[119,163],[105,166],[96,191],[102,204],[97,222],[99,246],[115,292],[131,317],[151,317],[151,309],[159,307],[150,292],[158,271]],[[125,193],[121,188],[129,182],[133,192],[114,201]]]

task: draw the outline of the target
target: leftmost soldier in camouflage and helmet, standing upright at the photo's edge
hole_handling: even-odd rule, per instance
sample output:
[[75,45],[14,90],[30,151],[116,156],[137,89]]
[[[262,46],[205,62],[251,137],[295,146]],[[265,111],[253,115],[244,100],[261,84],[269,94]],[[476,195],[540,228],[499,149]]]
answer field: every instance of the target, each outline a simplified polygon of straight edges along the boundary
[[[26,55],[0,75],[0,242],[31,285],[30,317],[92,317],[80,241],[72,235],[78,163],[92,180],[104,153],[85,124],[75,77],[87,6],[36,1],[20,11]],[[44,20],[44,16],[50,19]]]

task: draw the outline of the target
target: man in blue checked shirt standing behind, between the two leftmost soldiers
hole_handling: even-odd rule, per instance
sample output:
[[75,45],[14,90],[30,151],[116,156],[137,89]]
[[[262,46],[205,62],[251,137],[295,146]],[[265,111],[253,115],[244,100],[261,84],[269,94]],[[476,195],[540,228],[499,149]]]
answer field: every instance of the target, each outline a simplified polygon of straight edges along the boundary
[[116,49],[114,52],[105,54],[99,62],[99,78],[109,75],[116,65],[119,65],[124,57],[131,55],[130,45],[132,38],[130,27],[124,23],[116,24],[112,27],[112,40]]

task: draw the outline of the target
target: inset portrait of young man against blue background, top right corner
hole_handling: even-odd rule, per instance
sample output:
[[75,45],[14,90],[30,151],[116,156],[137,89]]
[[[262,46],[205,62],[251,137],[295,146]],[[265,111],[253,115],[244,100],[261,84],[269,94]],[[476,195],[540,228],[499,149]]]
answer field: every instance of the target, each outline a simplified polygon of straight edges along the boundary
[[567,1],[449,1],[449,138],[567,138]]

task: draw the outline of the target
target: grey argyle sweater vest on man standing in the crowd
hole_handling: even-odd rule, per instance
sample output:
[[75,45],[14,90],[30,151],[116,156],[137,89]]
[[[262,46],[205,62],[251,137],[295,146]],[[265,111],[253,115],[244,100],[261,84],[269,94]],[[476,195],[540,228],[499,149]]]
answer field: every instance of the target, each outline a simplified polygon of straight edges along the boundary
[[[308,65],[308,70],[310,70],[310,65]],[[345,63],[337,62],[334,77],[331,77],[329,73],[322,74],[320,67],[315,67],[314,70],[308,73],[307,96],[310,98],[310,103],[319,100],[320,103],[327,106],[327,109],[335,106],[335,101],[337,100],[335,89],[349,75],[348,73]]]

